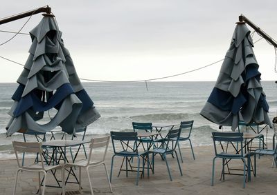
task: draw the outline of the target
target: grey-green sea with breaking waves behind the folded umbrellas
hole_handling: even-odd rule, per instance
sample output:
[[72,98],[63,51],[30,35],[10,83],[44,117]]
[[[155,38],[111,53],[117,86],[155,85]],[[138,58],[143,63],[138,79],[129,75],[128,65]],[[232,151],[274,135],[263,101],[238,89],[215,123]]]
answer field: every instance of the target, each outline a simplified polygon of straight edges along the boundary
[[[12,105],[11,96],[17,83],[0,83],[0,157],[9,158],[12,141],[22,141],[22,134],[6,137],[6,125],[10,119],[8,111]],[[94,102],[101,117],[87,127],[86,138],[109,134],[110,131],[132,131],[132,122],[153,124],[178,124],[194,120],[191,140],[193,145],[211,145],[211,132],[222,131],[217,124],[199,115],[213,90],[215,82],[148,82],[145,83],[83,83],[84,89]],[[269,103],[269,117],[277,115],[277,84],[262,81],[262,87]],[[230,131],[223,127],[223,131]],[[273,130],[267,129],[268,141]]]

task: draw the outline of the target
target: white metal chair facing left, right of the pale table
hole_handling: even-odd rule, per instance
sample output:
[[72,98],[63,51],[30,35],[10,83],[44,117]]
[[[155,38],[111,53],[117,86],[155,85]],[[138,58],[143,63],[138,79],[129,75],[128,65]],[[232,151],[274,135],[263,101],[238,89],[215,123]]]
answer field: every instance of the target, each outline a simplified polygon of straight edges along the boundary
[[[85,168],[87,170],[87,176],[89,178],[89,186],[91,188],[91,194],[93,194],[93,189],[92,189],[92,185],[91,185],[91,178],[89,176],[89,167],[96,167],[98,165],[104,165],[105,167],[105,171],[106,171],[106,174],[107,174],[107,181],[109,183],[109,189],[111,190],[112,192],[112,189],[111,189],[111,182],[109,181],[109,174],[108,174],[108,171],[107,171],[107,166],[105,164],[105,157],[106,157],[106,154],[107,154],[107,148],[109,146],[109,138],[110,136],[105,136],[105,137],[101,137],[101,138],[91,138],[91,143],[89,145],[89,148],[90,148],[90,151],[89,151],[89,158],[87,159],[82,159],[78,162],[75,162],[75,163],[66,163],[64,165],[64,168],[66,167],[79,167],[79,190],[82,189],[81,187],[81,168]],[[100,158],[100,160],[93,160],[93,149],[98,149],[98,148],[104,148],[105,151],[102,153],[102,158]],[[99,156],[99,155],[98,155]]]

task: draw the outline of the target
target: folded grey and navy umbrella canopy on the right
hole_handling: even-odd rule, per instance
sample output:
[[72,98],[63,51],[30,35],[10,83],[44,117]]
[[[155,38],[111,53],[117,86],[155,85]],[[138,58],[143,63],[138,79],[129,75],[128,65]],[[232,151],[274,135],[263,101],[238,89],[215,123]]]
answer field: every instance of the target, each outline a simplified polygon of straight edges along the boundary
[[239,121],[271,127],[258,68],[250,30],[245,23],[238,23],[215,87],[200,114],[213,123],[231,126],[233,131]]

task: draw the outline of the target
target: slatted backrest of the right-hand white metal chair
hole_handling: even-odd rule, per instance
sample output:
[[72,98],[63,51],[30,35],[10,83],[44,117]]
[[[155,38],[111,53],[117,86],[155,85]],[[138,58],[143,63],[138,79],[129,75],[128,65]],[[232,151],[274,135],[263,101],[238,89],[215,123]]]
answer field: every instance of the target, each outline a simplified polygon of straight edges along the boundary
[[[107,149],[109,146],[109,138],[110,136],[104,136],[104,137],[99,137],[99,138],[91,138],[91,143],[89,144],[89,158],[88,163],[92,160],[91,158],[93,157],[93,149],[100,149],[104,148],[104,152],[102,152],[102,159],[100,161],[105,161],[106,154],[107,154]],[[99,154],[97,155],[99,157]]]

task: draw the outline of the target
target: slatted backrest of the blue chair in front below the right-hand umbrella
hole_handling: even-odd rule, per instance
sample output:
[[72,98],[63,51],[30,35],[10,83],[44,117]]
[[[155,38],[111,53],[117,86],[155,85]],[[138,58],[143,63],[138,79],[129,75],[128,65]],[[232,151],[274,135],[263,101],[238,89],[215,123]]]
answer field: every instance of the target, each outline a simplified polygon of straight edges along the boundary
[[[215,155],[217,156],[217,147],[226,154],[238,154],[243,156],[242,142],[243,133],[240,132],[212,132]],[[218,145],[219,143],[219,145]]]

